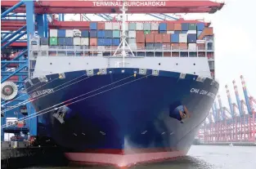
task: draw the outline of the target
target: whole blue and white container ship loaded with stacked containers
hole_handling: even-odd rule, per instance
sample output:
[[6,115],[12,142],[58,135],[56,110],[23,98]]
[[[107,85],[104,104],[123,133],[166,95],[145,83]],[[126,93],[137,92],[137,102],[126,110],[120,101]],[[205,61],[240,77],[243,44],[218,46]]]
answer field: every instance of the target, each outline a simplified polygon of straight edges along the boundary
[[92,22],[49,35],[29,40],[38,140],[119,167],[186,155],[218,92],[209,24]]

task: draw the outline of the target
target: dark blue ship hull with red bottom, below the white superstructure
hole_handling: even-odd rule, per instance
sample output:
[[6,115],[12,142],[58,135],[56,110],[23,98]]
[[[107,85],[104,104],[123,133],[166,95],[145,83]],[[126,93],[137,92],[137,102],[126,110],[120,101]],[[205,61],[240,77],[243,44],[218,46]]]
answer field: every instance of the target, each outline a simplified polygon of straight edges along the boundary
[[[93,75],[83,70],[65,73],[65,78],[47,75],[48,82],[34,78],[33,86],[26,82],[36,111],[47,112],[38,116],[38,136],[52,138],[77,162],[126,166],[186,155],[218,83],[198,82],[191,74],[182,79],[168,71],[139,72],[94,69]],[[183,123],[179,105],[189,112]]]

